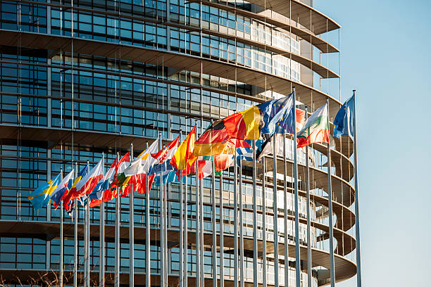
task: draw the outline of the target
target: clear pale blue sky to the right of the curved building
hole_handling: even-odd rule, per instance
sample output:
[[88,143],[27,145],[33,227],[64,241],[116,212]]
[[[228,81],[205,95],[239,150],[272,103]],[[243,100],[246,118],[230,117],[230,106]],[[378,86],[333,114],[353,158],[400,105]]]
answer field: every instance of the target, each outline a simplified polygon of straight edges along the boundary
[[363,286],[431,286],[431,1],[313,2],[342,25],[342,100],[358,93]]

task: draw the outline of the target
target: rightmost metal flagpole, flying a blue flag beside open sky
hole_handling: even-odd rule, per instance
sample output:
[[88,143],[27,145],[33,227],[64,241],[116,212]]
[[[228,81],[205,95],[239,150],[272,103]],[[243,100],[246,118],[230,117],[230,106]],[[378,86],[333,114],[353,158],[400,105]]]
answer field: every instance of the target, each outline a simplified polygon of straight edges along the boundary
[[356,286],[362,286],[361,278],[361,241],[359,236],[359,201],[358,201],[358,146],[356,143],[356,90],[354,95],[354,175],[355,175],[355,230],[356,230]]

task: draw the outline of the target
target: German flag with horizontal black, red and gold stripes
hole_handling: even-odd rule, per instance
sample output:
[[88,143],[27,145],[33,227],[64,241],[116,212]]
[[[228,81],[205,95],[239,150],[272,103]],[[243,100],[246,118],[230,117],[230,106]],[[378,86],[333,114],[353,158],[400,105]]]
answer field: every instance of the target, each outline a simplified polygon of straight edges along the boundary
[[232,139],[227,133],[223,120],[217,120],[210,125],[194,143],[194,155],[232,154],[235,148],[250,147],[241,139]]

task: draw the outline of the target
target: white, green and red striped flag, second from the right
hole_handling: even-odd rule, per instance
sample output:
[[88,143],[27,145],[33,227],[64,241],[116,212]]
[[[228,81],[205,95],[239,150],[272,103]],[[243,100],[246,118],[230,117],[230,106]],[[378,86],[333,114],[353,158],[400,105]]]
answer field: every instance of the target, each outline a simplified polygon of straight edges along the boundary
[[313,143],[329,143],[329,118],[327,116],[327,103],[318,108],[308,117],[304,128],[297,134],[298,148]]

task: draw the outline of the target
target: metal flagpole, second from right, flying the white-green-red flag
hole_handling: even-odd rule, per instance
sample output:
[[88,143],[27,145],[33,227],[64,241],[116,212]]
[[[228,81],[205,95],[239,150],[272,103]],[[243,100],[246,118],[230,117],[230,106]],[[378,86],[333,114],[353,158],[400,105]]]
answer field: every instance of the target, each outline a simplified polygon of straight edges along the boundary
[[[327,104],[327,126],[329,127],[329,100]],[[332,182],[331,182],[331,146],[327,144],[327,198],[329,207],[329,229],[330,229],[330,278],[331,287],[335,287],[335,264],[334,264],[334,230],[332,225]]]

